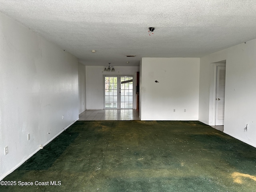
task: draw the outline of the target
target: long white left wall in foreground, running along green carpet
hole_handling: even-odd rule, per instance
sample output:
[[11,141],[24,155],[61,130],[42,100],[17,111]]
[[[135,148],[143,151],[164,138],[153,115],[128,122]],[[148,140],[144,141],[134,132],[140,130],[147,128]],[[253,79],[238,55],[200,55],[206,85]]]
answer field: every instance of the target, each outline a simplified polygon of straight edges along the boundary
[[1,180],[78,119],[78,60],[1,13],[0,45]]

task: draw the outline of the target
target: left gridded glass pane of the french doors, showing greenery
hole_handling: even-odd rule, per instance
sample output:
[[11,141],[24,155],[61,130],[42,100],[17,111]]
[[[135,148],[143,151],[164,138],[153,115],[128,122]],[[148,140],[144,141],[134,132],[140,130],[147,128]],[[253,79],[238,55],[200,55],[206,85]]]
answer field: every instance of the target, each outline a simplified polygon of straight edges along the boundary
[[117,77],[105,77],[105,108],[117,108]]

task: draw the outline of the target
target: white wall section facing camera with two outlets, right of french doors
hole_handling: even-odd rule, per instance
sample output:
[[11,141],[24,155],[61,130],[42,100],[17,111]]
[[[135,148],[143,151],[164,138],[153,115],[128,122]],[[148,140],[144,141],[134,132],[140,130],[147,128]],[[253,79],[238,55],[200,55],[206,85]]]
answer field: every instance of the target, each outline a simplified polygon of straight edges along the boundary
[[199,58],[142,58],[141,120],[198,120],[199,64]]

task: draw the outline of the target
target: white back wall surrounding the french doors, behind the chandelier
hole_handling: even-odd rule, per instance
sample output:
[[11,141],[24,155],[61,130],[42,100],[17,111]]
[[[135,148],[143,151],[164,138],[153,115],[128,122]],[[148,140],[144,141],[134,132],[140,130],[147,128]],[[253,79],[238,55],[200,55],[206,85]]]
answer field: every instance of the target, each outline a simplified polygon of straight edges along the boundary
[[115,72],[105,72],[104,67],[86,66],[86,109],[104,108],[104,75],[133,75],[136,78],[136,72],[139,71],[137,66],[114,66]]

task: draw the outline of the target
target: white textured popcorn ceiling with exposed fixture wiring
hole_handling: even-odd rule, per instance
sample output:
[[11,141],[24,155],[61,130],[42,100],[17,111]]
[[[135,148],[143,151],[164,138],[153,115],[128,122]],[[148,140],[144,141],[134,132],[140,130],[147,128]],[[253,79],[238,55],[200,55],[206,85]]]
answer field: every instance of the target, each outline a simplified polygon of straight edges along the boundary
[[255,0],[0,0],[0,12],[86,65],[201,57],[256,38]]

